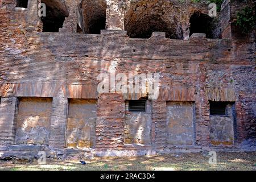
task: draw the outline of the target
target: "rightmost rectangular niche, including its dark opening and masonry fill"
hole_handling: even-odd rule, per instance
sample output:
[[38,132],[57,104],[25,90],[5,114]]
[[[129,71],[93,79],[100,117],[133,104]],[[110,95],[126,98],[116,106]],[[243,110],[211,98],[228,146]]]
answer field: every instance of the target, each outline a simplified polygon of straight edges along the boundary
[[210,102],[210,143],[234,144],[234,107],[232,102]]

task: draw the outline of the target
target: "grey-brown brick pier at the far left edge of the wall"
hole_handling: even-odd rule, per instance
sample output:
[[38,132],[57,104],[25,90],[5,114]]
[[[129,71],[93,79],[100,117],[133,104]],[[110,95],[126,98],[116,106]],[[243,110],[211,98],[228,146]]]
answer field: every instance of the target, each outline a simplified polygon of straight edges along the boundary
[[15,142],[16,117],[18,115],[18,99],[10,88],[0,104],[0,150],[6,150]]

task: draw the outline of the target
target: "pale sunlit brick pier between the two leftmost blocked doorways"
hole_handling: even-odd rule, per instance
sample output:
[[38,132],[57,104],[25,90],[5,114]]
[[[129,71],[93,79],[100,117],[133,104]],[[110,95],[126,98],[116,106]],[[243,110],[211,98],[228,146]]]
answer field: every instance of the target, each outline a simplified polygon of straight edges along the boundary
[[65,133],[67,128],[68,99],[60,89],[57,97],[52,100],[51,131],[49,136],[50,148],[65,147]]

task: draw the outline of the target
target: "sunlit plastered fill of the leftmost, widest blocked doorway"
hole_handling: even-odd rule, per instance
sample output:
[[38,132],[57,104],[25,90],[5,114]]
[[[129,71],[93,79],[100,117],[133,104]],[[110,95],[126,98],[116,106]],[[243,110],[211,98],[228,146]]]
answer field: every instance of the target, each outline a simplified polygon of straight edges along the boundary
[[52,98],[20,98],[15,144],[48,144]]

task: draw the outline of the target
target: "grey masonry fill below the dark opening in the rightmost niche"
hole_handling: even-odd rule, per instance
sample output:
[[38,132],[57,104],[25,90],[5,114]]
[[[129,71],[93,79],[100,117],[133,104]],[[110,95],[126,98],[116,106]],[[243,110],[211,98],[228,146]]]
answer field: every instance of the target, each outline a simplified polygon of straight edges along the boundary
[[234,118],[232,104],[226,106],[225,115],[210,115],[210,143],[232,145],[234,143]]

